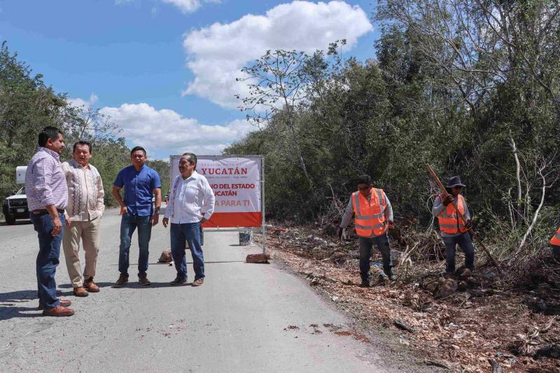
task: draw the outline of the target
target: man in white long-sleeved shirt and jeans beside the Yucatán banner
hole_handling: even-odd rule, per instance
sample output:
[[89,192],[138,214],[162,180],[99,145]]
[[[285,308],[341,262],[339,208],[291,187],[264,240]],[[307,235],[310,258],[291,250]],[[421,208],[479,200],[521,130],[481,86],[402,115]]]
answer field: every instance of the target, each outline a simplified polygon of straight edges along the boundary
[[193,286],[204,283],[204,255],[201,244],[201,225],[210,220],[214,212],[214,192],[207,179],[196,171],[197,156],[181,155],[180,175],[176,176],[169,191],[169,202],[162,220],[167,228],[171,219],[171,254],[177,270],[172,285],[187,282],[186,244],[193,254],[195,281]]

